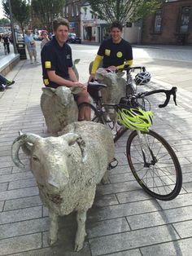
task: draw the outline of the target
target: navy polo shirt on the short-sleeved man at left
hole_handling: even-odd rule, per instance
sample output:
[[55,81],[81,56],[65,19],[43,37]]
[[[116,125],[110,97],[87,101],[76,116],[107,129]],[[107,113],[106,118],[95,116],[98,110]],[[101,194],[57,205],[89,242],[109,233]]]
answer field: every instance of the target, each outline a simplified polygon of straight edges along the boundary
[[68,79],[68,68],[72,67],[71,47],[67,43],[64,43],[62,47],[59,46],[59,43],[53,37],[41,50],[41,65],[45,86],[57,88],[59,85],[50,81],[47,71],[54,70],[59,77]]

